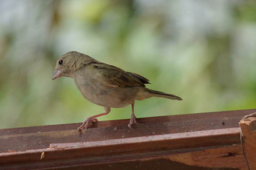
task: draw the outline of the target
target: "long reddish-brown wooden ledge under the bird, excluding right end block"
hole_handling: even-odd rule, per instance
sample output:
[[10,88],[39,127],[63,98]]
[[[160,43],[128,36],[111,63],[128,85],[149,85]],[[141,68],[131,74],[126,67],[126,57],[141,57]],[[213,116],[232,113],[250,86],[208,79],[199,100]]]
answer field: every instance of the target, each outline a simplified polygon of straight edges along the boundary
[[0,129],[0,169],[243,170],[238,122],[253,112],[139,118],[135,131],[128,119],[100,121],[82,137],[81,123]]

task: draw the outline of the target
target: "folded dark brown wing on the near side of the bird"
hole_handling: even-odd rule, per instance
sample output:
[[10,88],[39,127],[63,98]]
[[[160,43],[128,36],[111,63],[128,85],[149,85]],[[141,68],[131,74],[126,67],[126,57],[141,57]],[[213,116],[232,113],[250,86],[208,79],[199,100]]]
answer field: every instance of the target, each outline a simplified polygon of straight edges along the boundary
[[[135,87],[145,86],[144,83],[148,83],[148,79],[135,74],[126,72],[116,66],[108,65],[105,63],[94,63],[94,67],[99,70],[104,81],[103,83],[113,87]],[[143,79],[143,81],[141,80]]]

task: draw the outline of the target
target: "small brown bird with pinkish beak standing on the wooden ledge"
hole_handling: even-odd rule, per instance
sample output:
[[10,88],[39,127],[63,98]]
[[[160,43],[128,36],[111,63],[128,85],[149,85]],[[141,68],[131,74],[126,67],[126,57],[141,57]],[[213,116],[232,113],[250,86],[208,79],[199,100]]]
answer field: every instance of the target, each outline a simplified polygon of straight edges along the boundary
[[150,97],[182,100],[174,94],[146,88],[145,84],[150,84],[149,80],[139,74],[101,63],[76,51],[70,51],[58,59],[52,80],[61,76],[73,78],[85,99],[104,107],[103,113],[88,117],[77,129],[78,132],[90,127],[92,122],[98,121],[97,117],[107,115],[110,107],[120,108],[131,104],[132,115],[128,127],[132,129],[132,124],[138,124],[134,115],[134,100]]

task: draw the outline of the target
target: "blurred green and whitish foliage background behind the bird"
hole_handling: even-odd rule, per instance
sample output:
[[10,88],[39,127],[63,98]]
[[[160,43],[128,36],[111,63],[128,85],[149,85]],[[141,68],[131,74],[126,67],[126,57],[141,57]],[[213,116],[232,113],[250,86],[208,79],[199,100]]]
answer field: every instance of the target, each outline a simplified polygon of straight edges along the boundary
[[[183,101],[135,102],[137,117],[250,109],[256,102],[256,1],[1,0],[0,128],[83,122],[103,107],[72,78],[78,51],[150,79]],[[131,106],[99,120],[129,119]]]

